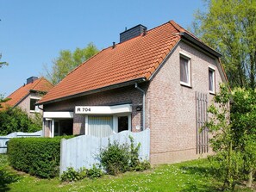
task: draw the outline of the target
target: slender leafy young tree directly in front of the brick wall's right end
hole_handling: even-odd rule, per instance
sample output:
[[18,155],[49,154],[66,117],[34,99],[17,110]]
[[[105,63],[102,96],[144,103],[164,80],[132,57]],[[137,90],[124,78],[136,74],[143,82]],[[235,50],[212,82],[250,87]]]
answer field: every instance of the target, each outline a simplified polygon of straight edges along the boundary
[[228,87],[220,86],[214,102],[209,106],[209,121],[204,128],[209,129],[213,137],[209,143],[215,152],[209,157],[215,164],[219,177],[223,181],[224,189],[234,189],[235,184],[240,179],[241,158],[240,152],[234,150],[234,132],[230,123],[229,100],[231,94]]

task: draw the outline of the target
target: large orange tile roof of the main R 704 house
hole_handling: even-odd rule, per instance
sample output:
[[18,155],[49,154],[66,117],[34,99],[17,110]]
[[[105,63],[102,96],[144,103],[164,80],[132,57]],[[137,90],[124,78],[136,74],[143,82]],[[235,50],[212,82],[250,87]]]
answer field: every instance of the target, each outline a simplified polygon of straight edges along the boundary
[[116,44],[115,48],[109,46],[70,72],[40,103],[53,102],[134,79],[148,80],[181,39],[179,33],[184,32],[190,34],[171,21],[148,30],[146,35],[140,34]]

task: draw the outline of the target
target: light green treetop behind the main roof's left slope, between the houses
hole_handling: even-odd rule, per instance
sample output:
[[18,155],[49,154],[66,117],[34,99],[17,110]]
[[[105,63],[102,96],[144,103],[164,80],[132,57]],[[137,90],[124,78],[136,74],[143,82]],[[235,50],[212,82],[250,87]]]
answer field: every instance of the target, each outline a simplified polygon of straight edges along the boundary
[[70,50],[61,50],[59,57],[53,59],[51,69],[44,66],[46,72],[44,76],[47,77],[52,84],[59,84],[70,71],[82,64],[86,59],[90,59],[96,53],[98,53],[98,50],[93,43],[89,43],[82,49],[77,48],[73,53]]

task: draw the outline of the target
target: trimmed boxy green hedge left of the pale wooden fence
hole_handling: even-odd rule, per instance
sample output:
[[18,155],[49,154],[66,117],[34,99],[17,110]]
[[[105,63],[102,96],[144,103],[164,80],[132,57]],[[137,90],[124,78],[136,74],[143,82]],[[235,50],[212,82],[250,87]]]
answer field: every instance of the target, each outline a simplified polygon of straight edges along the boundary
[[59,175],[60,139],[16,138],[8,143],[9,163],[16,170],[22,170],[42,178]]

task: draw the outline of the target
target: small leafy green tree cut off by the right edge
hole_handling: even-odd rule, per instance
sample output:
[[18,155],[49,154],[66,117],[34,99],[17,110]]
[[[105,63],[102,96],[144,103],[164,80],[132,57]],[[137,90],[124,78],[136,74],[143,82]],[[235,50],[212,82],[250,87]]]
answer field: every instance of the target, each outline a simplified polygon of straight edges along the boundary
[[231,121],[234,129],[234,145],[244,161],[247,186],[251,187],[256,169],[256,91],[235,89],[232,93]]

